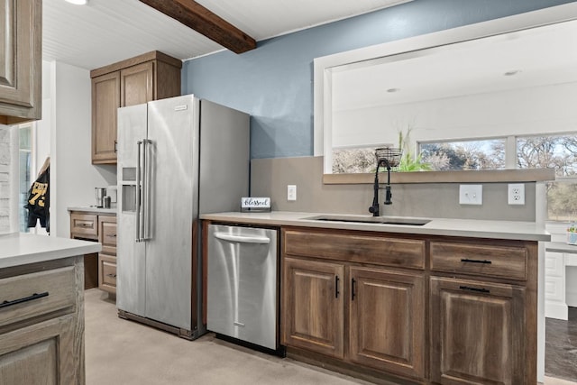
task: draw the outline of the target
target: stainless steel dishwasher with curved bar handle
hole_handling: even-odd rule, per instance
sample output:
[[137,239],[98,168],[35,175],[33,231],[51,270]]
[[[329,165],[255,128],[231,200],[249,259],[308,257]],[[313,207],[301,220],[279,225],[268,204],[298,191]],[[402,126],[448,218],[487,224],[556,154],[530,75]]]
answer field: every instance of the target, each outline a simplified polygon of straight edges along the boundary
[[278,230],[208,225],[206,328],[279,347]]

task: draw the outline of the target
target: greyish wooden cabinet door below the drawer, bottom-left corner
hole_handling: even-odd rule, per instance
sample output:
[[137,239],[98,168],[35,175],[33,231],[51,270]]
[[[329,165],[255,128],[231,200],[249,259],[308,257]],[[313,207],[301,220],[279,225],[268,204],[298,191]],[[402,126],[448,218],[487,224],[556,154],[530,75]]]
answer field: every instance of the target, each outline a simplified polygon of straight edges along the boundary
[[74,363],[74,316],[61,316],[0,335],[0,383],[81,383]]

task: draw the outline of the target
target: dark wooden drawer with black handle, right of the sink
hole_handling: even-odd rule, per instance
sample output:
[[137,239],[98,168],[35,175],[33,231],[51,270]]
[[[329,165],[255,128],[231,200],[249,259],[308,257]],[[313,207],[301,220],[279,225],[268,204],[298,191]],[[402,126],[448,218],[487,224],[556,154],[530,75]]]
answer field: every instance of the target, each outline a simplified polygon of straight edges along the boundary
[[527,249],[431,242],[431,270],[527,280]]

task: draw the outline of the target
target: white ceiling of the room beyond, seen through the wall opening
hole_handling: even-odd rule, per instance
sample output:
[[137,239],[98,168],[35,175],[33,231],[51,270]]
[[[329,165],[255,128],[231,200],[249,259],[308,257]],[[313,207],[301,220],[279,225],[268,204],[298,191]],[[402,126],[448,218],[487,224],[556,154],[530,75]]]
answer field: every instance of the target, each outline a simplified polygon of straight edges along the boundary
[[576,82],[576,42],[569,21],[344,65],[334,111]]

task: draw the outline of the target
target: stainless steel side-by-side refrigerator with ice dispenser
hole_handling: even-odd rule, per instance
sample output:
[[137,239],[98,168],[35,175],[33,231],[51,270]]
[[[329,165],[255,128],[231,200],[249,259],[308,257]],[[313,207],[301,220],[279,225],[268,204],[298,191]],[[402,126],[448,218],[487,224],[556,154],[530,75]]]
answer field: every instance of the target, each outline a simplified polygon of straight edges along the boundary
[[202,323],[198,215],[249,192],[249,115],[177,96],[118,109],[118,315],[194,339]]

